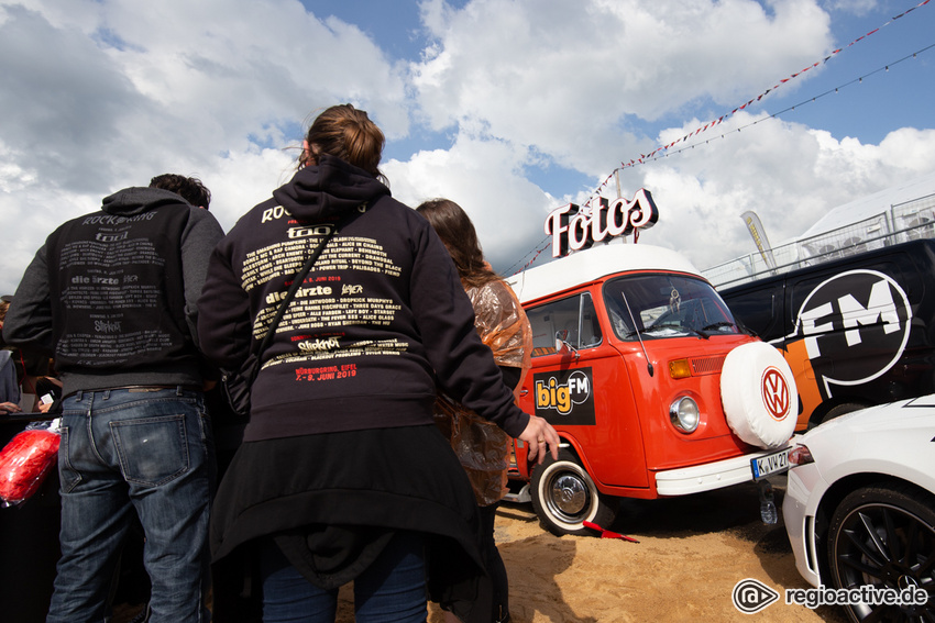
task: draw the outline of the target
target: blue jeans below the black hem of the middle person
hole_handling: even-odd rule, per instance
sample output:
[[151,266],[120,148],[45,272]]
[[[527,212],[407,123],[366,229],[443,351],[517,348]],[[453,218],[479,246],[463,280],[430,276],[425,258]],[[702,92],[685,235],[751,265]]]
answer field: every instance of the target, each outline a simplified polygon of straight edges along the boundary
[[[272,538],[261,545],[264,623],[333,623],[338,589],[305,579]],[[354,579],[358,623],[425,623],[428,618],[422,535],[397,532],[374,563]]]

